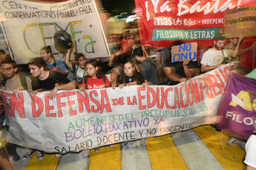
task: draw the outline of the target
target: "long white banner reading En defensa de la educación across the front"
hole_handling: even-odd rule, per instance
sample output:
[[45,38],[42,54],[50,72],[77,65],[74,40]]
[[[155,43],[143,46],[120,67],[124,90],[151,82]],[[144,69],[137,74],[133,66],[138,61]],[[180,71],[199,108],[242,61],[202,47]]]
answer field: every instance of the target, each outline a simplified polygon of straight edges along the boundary
[[228,80],[226,65],[177,86],[59,91],[53,101],[1,91],[7,140],[63,154],[192,129],[214,118]]

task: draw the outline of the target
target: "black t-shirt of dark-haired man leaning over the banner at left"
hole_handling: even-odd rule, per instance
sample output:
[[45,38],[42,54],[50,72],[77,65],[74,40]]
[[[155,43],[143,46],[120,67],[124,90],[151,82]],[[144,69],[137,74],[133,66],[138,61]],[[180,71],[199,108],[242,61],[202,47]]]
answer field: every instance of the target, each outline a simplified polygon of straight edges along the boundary
[[46,78],[44,81],[41,81],[37,78],[38,85],[37,87],[33,87],[33,90],[36,89],[45,89],[45,90],[51,90],[54,88],[54,86],[59,84],[68,84],[70,80],[65,75],[62,75],[59,72],[51,71],[49,72],[48,78]]

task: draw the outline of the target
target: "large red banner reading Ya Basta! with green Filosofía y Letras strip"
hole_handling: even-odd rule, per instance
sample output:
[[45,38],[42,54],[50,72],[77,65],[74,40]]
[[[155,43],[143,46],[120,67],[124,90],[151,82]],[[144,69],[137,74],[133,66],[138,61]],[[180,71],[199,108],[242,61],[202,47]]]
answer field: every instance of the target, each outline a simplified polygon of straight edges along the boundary
[[212,46],[216,33],[223,33],[224,13],[255,6],[255,0],[135,0],[142,44],[170,47],[177,39]]

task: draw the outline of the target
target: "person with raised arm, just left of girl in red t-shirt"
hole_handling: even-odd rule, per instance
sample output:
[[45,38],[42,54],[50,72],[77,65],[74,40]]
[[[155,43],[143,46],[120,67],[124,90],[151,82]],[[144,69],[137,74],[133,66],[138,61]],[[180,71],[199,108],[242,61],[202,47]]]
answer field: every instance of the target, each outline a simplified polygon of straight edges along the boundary
[[87,75],[87,72],[85,71],[85,55],[82,53],[75,53],[75,60],[76,64],[72,64],[70,62],[70,55],[71,55],[72,49],[69,49],[68,52],[65,55],[65,64],[70,68],[70,72],[68,72],[68,79],[70,81],[75,81],[76,86],[78,87],[78,84],[82,83],[82,78],[84,78],[85,75]]

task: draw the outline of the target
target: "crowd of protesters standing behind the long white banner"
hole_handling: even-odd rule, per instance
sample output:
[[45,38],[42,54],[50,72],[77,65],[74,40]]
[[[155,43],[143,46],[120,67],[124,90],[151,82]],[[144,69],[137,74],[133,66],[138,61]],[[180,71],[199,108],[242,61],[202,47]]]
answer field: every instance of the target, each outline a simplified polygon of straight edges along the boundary
[[[53,99],[61,89],[85,91],[106,87],[115,89],[117,86],[122,89],[124,86],[133,85],[176,85],[230,62],[234,72],[246,75],[252,70],[240,67],[239,56],[254,48],[256,42],[245,49],[240,49],[242,43],[243,35],[227,40],[222,33],[217,33],[213,37],[213,47],[204,52],[200,61],[184,59],[172,63],[171,47],[184,44],[183,41],[174,41],[169,48],[159,49],[143,46],[140,44],[138,33],[124,30],[122,36],[111,47],[112,55],[107,62],[102,58],[86,58],[82,53],[73,53],[76,61],[70,61],[71,49],[65,52],[65,62],[59,61],[54,58],[51,47],[47,46],[42,47],[41,57],[30,59],[28,63],[30,75],[19,73],[16,62],[7,56],[4,50],[0,50],[0,85],[13,94],[22,90],[27,90],[31,95],[49,91],[49,98]],[[252,78],[256,77],[255,70],[250,74]],[[0,105],[4,110],[3,101]],[[0,117],[0,129],[1,132],[4,131],[4,114]],[[235,141],[236,139],[232,139],[229,144],[232,145]],[[145,145],[145,140],[141,143]],[[10,167],[9,156],[13,157],[14,161],[19,161],[20,157],[16,152],[16,145],[12,143],[4,145],[7,151],[0,146],[0,167]],[[22,160],[26,160],[34,152],[38,160],[44,159],[44,152],[27,149],[27,154]],[[99,152],[99,148],[96,148],[95,152]],[[82,152],[83,157],[88,157],[89,154],[88,150]],[[58,156],[60,154],[56,154],[56,157]],[[249,165],[256,168],[256,163]]]

